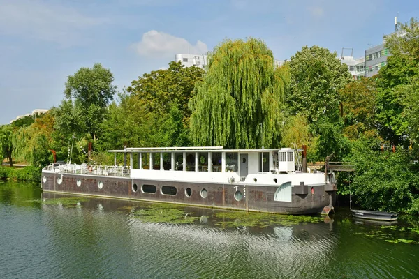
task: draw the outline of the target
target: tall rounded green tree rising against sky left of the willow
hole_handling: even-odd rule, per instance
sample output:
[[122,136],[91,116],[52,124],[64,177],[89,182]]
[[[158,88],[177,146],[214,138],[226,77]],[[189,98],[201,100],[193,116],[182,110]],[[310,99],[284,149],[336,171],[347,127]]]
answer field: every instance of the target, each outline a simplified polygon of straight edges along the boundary
[[[74,110],[80,113],[80,121],[85,127],[80,129],[90,133],[94,141],[101,122],[107,113],[106,107],[113,100],[116,86],[112,85],[113,74],[109,69],[95,63],[93,68],[80,68],[74,75],[68,76],[64,95],[74,100]],[[58,119],[57,119],[58,120]]]

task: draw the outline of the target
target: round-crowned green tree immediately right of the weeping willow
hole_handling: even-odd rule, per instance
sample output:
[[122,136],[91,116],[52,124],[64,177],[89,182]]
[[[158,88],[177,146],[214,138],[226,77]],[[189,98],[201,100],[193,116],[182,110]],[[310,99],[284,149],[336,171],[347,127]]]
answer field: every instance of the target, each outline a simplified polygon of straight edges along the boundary
[[[291,115],[303,112],[309,122],[326,116],[336,121],[339,116],[339,90],[351,82],[352,77],[337,54],[318,47],[302,47],[291,56],[291,89],[286,102]],[[324,117],[323,117],[324,118]]]

